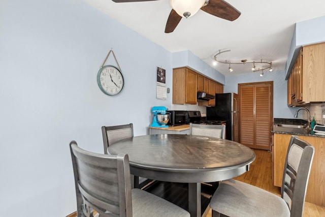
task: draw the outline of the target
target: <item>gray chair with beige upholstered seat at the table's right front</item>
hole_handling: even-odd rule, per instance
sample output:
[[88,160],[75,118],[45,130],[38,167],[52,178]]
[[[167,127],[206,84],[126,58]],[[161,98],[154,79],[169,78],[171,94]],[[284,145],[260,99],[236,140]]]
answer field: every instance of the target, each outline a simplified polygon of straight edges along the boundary
[[292,136],[285,159],[281,197],[253,185],[229,179],[222,181],[210,207],[212,216],[303,216],[314,147]]

